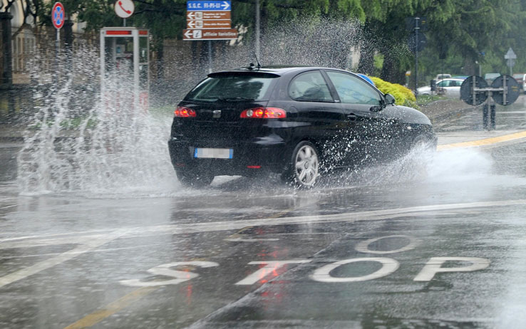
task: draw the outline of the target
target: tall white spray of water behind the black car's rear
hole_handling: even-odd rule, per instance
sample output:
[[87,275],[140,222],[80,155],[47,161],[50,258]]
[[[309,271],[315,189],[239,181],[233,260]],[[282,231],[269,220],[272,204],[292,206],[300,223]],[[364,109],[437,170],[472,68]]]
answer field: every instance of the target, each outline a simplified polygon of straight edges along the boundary
[[169,117],[122,101],[133,97],[126,93],[133,90],[130,75],[110,78],[100,95],[96,50],[76,56],[82,61],[71,61],[51,88],[36,88],[18,156],[21,192],[125,192],[165,184],[173,174]]

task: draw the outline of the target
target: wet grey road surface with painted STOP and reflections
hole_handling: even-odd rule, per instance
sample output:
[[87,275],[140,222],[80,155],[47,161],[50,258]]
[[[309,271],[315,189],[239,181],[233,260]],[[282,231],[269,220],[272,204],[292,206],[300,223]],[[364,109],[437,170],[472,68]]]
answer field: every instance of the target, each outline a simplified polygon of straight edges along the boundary
[[[525,130],[524,102],[497,109],[497,132],[480,112],[441,119],[439,142]],[[524,139],[309,191],[21,195],[16,145],[1,150],[0,328],[526,327]]]

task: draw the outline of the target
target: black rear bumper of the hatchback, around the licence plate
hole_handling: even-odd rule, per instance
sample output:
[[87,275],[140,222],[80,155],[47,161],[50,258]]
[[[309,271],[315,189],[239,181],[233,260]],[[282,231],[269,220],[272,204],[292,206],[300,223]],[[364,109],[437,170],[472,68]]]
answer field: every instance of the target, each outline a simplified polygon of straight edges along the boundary
[[[196,147],[221,147],[233,150],[232,159],[195,158]],[[253,176],[261,172],[284,171],[287,165],[289,150],[284,141],[257,140],[254,142],[237,142],[235,145],[218,145],[207,142],[187,142],[171,138],[168,141],[170,159],[176,170],[210,172],[217,175]]]

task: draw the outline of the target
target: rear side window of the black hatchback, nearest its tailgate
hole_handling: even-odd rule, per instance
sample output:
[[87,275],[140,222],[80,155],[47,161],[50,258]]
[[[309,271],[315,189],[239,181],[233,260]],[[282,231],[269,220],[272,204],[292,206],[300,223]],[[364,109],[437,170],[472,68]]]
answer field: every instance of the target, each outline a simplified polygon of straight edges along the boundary
[[301,73],[292,79],[289,85],[289,96],[293,100],[308,102],[334,101],[329,86],[320,71]]

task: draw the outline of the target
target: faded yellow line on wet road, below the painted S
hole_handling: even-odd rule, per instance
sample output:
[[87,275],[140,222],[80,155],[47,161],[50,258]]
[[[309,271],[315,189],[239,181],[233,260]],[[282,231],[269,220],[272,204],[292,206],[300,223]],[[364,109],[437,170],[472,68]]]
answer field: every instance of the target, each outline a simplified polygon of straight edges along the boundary
[[81,318],[81,320],[78,320],[76,323],[68,325],[64,329],[90,328],[93,325],[96,325],[100,321],[104,320],[105,318],[108,318],[108,316],[117,313],[119,310],[128,307],[128,305],[132,303],[135,303],[135,301],[138,301],[138,299],[148,295],[148,293],[151,293],[157,290],[158,288],[159,287],[138,288],[137,290],[128,293],[128,295],[119,298],[117,301],[109,303],[105,306],[105,308],[100,308],[99,310],[96,310],[95,312],[86,315],[84,318]]

